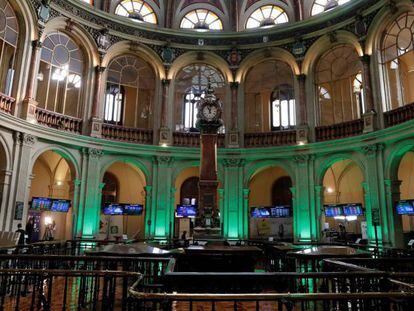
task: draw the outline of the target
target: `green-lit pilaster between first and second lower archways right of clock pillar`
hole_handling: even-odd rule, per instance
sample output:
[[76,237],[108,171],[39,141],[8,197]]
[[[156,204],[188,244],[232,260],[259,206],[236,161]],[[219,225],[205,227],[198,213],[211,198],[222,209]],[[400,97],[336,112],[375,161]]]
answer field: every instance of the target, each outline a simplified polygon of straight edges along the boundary
[[[296,168],[296,196],[293,203],[294,240],[298,242],[309,242],[314,236],[312,232],[312,212],[315,208],[310,198],[309,168],[310,157],[299,155],[294,158]],[[313,191],[312,191],[313,192]],[[293,195],[293,192],[292,192]]]

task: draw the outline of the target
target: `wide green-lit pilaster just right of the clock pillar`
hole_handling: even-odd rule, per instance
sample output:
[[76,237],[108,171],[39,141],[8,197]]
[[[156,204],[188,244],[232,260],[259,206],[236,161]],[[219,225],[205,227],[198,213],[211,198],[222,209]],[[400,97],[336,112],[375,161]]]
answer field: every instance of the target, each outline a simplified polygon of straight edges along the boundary
[[247,238],[245,223],[248,215],[243,208],[244,160],[224,159],[223,236],[228,239]]

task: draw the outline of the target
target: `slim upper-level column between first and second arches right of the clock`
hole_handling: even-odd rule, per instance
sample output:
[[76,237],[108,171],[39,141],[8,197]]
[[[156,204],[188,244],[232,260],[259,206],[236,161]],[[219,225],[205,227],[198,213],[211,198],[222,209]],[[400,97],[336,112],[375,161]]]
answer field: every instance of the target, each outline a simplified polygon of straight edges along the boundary
[[307,104],[306,104],[306,75],[300,74],[296,76],[299,85],[299,120],[296,127],[296,142],[298,144],[308,143],[309,125],[307,119]]

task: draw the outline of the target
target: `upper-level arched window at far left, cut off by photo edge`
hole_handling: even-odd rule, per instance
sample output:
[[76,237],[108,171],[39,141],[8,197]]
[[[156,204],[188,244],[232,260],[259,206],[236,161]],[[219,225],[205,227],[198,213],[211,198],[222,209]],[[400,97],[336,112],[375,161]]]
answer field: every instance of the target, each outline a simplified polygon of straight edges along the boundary
[[19,26],[10,4],[0,0],[0,92],[10,96],[13,88]]

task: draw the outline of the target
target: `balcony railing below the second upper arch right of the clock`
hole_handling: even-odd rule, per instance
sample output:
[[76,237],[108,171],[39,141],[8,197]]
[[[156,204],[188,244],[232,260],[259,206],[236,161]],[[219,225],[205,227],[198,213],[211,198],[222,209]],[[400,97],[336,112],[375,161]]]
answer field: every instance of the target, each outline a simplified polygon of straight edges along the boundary
[[364,132],[364,120],[358,119],[349,122],[318,126],[315,128],[316,141],[346,138],[361,135]]

